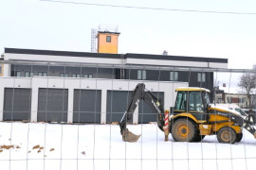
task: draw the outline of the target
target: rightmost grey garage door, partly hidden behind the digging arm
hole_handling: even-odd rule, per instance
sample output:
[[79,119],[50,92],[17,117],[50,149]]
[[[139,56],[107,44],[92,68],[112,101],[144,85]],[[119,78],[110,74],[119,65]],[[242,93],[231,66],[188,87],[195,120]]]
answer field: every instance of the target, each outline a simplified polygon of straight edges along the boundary
[[[162,104],[164,106],[164,93],[162,92],[154,92],[155,97],[162,100]],[[140,102],[138,104],[138,123],[149,123],[156,122],[155,112],[153,112],[147,103]]]

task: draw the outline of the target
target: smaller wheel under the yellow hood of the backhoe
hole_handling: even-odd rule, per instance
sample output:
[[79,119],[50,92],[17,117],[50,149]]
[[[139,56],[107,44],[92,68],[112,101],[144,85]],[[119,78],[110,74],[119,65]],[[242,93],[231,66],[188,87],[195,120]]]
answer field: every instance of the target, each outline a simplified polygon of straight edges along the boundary
[[217,132],[219,143],[234,144],[236,142],[236,132],[231,127],[221,127]]

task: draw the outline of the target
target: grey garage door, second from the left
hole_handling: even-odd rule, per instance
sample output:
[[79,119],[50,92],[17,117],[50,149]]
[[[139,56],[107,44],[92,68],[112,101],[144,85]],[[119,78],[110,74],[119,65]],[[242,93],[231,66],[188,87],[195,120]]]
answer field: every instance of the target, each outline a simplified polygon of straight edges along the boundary
[[39,89],[37,121],[67,121],[68,90]]

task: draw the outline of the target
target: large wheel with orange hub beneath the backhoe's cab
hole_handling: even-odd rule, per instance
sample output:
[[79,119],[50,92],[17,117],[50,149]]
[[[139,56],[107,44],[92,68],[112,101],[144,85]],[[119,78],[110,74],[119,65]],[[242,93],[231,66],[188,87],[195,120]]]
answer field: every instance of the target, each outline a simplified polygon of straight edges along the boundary
[[176,142],[194,142],[199,135],[195,123],[190,119],[181,118],[174,122],[172,136]]

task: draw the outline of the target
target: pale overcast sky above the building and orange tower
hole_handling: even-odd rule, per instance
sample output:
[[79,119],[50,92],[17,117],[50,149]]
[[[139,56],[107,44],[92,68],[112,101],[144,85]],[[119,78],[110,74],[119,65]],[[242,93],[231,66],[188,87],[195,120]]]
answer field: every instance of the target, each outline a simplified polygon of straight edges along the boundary
[[[64,0],[65,1],[65,0]],[[91,28],[119,26],[119,53],[229,59],[229,68],[256,63],[255,0],[69,0],[224,14],[111,8],[40,0],[0,0],[0,53],[4,47],[91,51]]]

